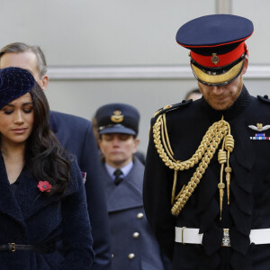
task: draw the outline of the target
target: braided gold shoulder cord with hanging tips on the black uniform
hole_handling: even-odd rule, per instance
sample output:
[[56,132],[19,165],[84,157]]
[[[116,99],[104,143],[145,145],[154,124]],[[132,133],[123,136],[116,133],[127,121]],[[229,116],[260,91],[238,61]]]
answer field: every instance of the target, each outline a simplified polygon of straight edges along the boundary
[[[230,173],[231,167],[229,166],[229,152],[231,152],[234,148],[234,139],[230,135],[230,127],[227,121],[223,120],[223,117],[220,121],[214,122],[211,127],[207,130],[205,135],[202,138],[201,144],[196,152],[193,154],[188,160],[180,161],[175,160],[174,152],[170,146],[167,130],[166,130],[166,113],[163,113],[157,117],[157,121],[153,126],[153,137],[154,143],[157,148],[157,153],[162,161],[168,166],[170,169],[175,170],[174,175],[174,184],[172,190],[172,200],[171,203],[173,205],[171,211],[177,216],[180,211],[184,208],[185,203],[188,201],[190,196],[192,195],[196,186],[200,183],[202,175],[207,169],[211,158],[213,157],[216,149],[219,147],[221,140],[223,139],[222,147],[220,148],[218,160],[220,162],[220,183],[218,184],[218,188],[220,189],[220,220],[222,213],[222,203],[223,203],[223,193],[225,184],[223,183],[223,169],[224,164],[227,162],[227,166],[225,168],[226,172],[226,181],[227,181],[227,196],[228,196],[228,204],[229,204],[229,182],[230,182]],[[224,150],[224,148],[227,150]],[[196,168],[191,180],[187,185],[184,185],[180,193],[175,197],[175,186],[177,181],[177,172],[188,170],[189,168],[195,166],[199,161],[201,163]]]

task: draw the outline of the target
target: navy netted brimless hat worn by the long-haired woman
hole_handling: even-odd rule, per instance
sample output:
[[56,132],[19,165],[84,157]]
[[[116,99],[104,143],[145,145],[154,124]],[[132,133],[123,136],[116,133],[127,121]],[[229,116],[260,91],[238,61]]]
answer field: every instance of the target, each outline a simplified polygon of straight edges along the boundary
[[31,91],[35,79],[31,73],[20,67],[0,69],[0,109],[7,103]]

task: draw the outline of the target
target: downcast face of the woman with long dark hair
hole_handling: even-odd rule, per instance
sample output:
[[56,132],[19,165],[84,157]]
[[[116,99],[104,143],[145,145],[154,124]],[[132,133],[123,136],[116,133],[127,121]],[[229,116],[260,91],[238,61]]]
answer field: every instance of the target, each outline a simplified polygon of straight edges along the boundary
[[34,122],[31,94],[26,93],[0,110],[1,145],[24,144]]

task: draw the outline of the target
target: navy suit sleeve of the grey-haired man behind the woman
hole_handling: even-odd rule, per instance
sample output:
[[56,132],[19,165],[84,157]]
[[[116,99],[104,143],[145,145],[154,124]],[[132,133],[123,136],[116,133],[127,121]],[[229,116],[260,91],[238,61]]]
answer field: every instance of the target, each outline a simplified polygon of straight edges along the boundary
[[103,188],[103,170],[90,121],[79,166],[86,172],[86,202],[93,228],[95,258],[91,270],[108,270],[112,262],[109,217]]

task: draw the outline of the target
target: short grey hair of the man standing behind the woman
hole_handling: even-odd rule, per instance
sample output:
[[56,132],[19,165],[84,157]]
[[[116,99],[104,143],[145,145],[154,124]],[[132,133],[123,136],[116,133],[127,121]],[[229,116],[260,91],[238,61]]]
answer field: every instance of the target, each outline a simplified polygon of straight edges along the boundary
[[40,49],[40,46],[37,45],[28,45],[23,42],[14,42],[10,43],[0,50],[0,58],[3,57],[5,53],[20,53],[25,51],[33,52],[37,57],[37,68],[39,70],[40,78],[47,73],[47,63],[43,51]]

